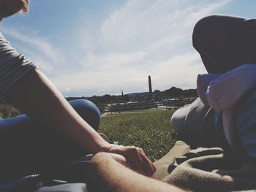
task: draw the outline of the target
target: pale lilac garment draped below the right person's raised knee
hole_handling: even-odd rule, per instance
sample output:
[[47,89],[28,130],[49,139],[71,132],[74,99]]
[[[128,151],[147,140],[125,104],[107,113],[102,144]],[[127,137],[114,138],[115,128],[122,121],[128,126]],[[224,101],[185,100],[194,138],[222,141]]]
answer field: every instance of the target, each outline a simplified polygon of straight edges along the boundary
[[[236,119],[233,117],[233,108],[237,104],[238,100],[244,96],[246,91],[255,87],[255,74],[256,64],[245,64],[238,66],[229,72],[225,72],[224,74],[199,74],[197,77],[198,95],[204,105],[212,107],[217,112],[222,112],[222,123],[225,137],[227,138],[227,142],[230,147],[233,149],[236,149],[234,139],[234,126],[236,126],[234,121],[236,122]],[[240,104],[243,103],[240,102]],[[236,114],[241,114],[240,111],[235,111],[238,112]],[[245,109],[244,112],[246,112]]]

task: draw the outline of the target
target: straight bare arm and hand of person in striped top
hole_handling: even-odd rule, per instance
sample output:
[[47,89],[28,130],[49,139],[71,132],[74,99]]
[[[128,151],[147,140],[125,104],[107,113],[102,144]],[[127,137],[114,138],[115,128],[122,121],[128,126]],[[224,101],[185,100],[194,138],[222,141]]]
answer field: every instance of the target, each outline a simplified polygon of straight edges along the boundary
[[18,83],[10,96],[10,104],[86,151],[118,153],[129,159],[143,174],[154,173],[154,165],[143,150],[132,146],[110,145],[102,139],[38,69]]

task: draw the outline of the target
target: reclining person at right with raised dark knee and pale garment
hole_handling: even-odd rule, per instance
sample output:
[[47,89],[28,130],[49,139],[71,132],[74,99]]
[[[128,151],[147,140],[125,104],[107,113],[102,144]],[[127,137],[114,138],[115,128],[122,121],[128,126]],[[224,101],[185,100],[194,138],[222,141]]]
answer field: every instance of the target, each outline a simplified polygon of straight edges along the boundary
[[193,45],[208,74],[197,77],[200,98],[171,119],[181,140],[256,158],[256,20],[210,15],[199,20]]

